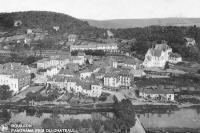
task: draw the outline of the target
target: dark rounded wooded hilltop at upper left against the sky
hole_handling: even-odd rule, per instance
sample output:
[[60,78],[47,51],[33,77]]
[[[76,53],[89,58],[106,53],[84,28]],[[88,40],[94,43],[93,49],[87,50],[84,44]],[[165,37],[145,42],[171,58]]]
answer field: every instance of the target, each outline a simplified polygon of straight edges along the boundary
[[[16,21],[22,24],[14,26]],[[47,11],[28,11],[0,14],[0,30],[17,30],[26,28],[41,28],[51,32],[53,26],[59,26],[59,33],[77,33],[77,34],[101,34],[101,29],[92,27],[86,21],[73,18],[69,15],[47,12]]]

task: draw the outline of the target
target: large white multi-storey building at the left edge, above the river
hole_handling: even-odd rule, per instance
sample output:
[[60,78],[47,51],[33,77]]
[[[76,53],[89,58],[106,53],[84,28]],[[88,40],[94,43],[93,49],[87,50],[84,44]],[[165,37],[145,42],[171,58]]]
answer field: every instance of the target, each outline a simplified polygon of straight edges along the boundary
[[8,85],[14,93],[30,84],[30,69],[20,63],[7,63],[0,66],[0,85]]

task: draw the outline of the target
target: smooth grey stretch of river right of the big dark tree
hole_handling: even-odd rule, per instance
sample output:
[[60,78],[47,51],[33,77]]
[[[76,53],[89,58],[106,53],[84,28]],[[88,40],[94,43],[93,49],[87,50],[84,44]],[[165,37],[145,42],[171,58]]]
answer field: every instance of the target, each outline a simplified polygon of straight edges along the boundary
[[199,109],[183,108],[167,113],[158,113],[157,115],[145,113],[140,115],[140,121],[146,128],[199,128],[200,114]]

